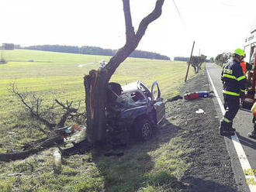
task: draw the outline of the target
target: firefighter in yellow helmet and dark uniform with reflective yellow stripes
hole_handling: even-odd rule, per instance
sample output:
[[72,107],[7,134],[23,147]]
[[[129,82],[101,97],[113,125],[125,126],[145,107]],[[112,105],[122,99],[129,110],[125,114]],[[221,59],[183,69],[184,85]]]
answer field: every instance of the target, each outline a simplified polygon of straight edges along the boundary
[[233,119],[237,115],[240,105],[240,98],[244,97],[245,81],[243,69],[240,66],[244,59],[244,51],[237,49],[233,53],[233,60],[230,60],[221,73],[223,81],[224,108],[226,110],[220,122],[220,135],[234,135],[236,129],[232,127]]

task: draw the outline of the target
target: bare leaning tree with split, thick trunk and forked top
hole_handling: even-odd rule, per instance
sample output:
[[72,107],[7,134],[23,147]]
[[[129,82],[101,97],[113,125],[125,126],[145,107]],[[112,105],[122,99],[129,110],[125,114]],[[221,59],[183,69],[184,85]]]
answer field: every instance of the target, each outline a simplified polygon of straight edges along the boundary
[[87,111],[87,135],[90,142],[102,142],[106,136],[106,87],[119,64],[129,57],[144,36],[150,22],[159,18],[164,0],[157,0],[154,10],[144,19],[135,33],[130,13],[130,0],[123,0],[123,12],[126,25],[126,43],[117,50],[102,70],[91,70],[84,77],[85,104]]

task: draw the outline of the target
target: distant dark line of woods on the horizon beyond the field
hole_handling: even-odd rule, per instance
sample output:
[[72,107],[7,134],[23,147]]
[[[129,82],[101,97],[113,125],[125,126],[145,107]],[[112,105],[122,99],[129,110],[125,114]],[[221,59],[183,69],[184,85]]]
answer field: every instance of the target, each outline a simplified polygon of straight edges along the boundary
[[[26,50],[44,50],[54,51],[61,53],[79,53],[79,54],[90,54],[90,55],[103,55],[113,56],[117,50],[103,49],[98,46],[61,46],[61,45],[40,45],[40,46],[26,46],[23,49]],[[161,55],[159,53],[152,53],[142,50],[134,50],[130,54],[130,57],[139,57],[156,60],[170,60],[170,57]]]

